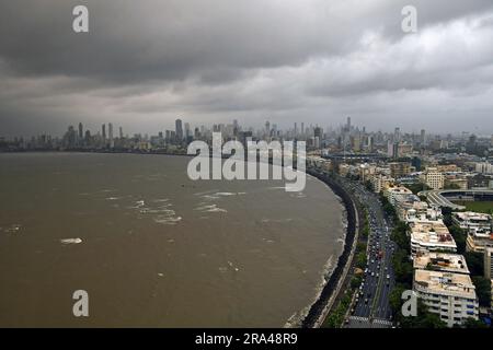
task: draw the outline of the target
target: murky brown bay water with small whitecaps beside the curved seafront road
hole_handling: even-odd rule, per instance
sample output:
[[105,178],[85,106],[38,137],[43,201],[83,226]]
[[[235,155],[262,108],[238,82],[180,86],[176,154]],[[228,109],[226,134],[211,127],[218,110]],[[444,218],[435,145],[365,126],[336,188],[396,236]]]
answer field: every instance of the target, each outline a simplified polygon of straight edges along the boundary
[[339,198],[193,182],[188,160],[0,154],[0,326],[296,325],[342,252]]

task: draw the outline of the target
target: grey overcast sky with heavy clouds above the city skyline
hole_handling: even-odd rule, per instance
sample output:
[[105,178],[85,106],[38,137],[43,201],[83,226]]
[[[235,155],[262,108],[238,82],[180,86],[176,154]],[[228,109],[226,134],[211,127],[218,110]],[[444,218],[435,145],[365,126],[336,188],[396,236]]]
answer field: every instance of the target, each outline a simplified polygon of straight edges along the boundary
[[492,83],[492,0],[0,0],[0,136],[347,116],[490,135]]

